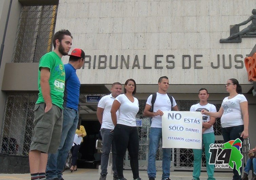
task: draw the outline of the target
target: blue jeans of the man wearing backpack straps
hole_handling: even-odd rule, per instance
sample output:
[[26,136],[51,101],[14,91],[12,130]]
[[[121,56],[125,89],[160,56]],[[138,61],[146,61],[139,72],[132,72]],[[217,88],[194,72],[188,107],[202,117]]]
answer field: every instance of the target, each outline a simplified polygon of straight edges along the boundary
[[[151,127],[149,134],[149,162],[147,164],[147,175],[156,178],[156,153],[160,138],[162,138],[162,128]],[[170,177],[171,148],[163,148],[162,159],[162,180]]]

